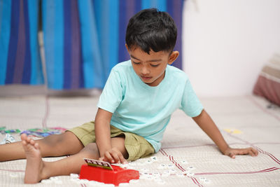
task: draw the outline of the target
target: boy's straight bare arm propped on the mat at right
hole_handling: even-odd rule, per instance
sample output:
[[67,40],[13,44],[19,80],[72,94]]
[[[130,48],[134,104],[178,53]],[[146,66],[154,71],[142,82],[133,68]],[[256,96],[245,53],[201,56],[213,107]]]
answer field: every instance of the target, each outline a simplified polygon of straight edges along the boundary
[[225,139],[223,139],[220,130],[218,130],[218,127],[206,111],[202,110],[202,113],[200,113],[199,116],[194,117],[193,120],[195,120],[195,123],[197,123],[197,125],[199,125],[200,128],[214,141],[224,155],[228,155],[231,158],[235,158],[235,155],[258,155],[258,151],[254,148],[230,148],[225,142]]

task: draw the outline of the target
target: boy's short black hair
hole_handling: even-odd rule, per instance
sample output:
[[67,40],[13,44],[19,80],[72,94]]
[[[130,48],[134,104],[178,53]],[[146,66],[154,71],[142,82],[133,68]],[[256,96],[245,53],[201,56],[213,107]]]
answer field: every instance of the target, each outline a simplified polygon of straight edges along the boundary
[[130,18],[125,36],[129,49],[141,48],[148,54],[151,50],[172,52],[176,39],[174,20],[156,8],[144,9]]

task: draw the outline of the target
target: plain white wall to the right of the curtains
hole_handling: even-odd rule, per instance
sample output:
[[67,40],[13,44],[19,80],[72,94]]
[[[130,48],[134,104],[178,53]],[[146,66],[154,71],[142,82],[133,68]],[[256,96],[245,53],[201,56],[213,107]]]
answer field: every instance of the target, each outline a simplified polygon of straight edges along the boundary
[[183,69],[199,96],[248,95],[280,53],[279,0],[187,0]]

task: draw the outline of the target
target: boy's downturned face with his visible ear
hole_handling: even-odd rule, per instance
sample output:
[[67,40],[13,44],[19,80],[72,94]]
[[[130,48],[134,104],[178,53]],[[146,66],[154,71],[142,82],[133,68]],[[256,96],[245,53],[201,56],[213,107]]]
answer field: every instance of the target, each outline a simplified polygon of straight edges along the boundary
[[[127,45],[125,45],[127,47]],[[140,48],[129,49],[132,67],[135,73],[141,78],[141,81],[150,86],[159,85],[165,78],[165,69],[167,64],[172,64],[179,56],[178,51],[171,54],[165,51],[154,52],[151,50],[150,55]]]

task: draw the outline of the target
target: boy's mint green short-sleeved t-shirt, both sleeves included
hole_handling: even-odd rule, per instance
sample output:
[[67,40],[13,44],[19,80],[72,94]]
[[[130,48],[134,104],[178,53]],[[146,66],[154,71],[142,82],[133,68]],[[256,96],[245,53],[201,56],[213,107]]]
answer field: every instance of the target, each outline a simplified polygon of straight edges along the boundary
[[144,137],[156,152],[176,109],[190,117],[203,109],[185,72],[167,65],[162,82],[150,86],[137,76],[130,60],[113,67],[97,106],[113,113],[111,125]]

